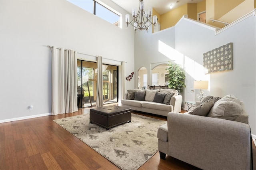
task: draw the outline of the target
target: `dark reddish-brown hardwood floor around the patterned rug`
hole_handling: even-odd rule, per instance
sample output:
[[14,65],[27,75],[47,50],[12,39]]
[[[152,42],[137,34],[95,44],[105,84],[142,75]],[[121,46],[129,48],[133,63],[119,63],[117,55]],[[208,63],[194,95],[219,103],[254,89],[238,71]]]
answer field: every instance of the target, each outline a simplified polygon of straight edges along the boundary
[[[22,121],[0,123],[0,170],[118,170],[119,168],[84,144],[54,119],[80,115],[76,113],[45,116]],[[137,113],[166,120],[166,117]],[[256,147],[253,145],[254,169]],[[196,170],[180,160],[156,153],[139,170]]]

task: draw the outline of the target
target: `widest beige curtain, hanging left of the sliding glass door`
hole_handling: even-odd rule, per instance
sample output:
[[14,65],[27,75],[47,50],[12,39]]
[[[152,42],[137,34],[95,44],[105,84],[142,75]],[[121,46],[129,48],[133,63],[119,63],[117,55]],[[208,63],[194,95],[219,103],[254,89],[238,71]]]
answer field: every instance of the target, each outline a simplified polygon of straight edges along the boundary
[[76,51],[52,48],[52,115],[78,111],[76,60]]

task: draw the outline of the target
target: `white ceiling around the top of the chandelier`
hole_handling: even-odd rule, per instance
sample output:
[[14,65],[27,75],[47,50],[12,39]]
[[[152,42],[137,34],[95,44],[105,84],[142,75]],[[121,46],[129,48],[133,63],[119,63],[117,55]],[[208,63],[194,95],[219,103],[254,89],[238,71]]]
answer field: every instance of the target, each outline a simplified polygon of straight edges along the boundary
[[[132,8],[136,7],[137,10],[140,6],[140,0],[112,0],[121,8],[124,8],[127,12],[132,13]],[[202,2],[203,0],[144,0],[144,9],[148,9],[153,7],[156,12],[160,15],[169,12],[179,6],[182,6],[187,3],[197,4],[198,2]],[[170,5],[172,4],[173,8],[170,9]]]

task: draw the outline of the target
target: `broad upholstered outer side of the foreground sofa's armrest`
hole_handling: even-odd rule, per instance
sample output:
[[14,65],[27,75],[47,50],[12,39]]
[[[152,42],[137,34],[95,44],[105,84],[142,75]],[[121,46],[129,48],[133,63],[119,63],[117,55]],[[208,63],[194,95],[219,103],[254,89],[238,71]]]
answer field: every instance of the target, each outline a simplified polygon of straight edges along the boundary
[[250,127],[225,119],[168,113],[169,155],[202,169],[250,169]]

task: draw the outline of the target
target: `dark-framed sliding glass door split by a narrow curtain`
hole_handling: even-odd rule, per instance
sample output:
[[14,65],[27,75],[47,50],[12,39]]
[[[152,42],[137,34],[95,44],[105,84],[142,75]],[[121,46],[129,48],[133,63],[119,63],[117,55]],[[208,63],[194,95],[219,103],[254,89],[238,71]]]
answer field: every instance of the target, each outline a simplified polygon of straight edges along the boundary
[[[96,105],[97,63],[77,60],[78,108]],[[103,101],[118,101],[118,66],[102,65]]]

